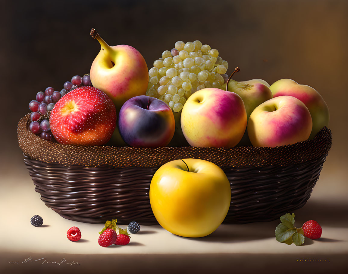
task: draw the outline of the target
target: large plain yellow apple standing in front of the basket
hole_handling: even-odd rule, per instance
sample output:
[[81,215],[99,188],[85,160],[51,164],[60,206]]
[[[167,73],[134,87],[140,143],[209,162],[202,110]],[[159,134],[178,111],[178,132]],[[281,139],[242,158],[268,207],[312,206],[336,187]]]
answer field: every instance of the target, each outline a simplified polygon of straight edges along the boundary
[[231,187],[214,163],[199,159],[168,162],[153,175],[150,203],[158,223],[184,237],[211,234],[225,219]]

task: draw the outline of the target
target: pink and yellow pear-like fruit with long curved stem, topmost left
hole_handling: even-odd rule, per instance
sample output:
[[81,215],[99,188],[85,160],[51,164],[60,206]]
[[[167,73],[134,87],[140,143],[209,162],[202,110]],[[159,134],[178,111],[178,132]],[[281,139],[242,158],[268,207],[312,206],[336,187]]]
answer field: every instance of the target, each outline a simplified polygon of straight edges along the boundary
[[134,47],[109,46],[94,29],[91,36],[99,41],[101,50],[90,68],[90,81],[108,94],[119,111],[128,99],[145,95],[149,82],[147,64]]

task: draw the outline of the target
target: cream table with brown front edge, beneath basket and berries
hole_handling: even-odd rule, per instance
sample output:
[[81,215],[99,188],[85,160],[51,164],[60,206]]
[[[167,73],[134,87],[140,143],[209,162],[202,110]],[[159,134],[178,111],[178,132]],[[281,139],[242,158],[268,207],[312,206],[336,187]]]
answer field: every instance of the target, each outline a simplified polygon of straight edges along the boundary
[[[183,265],[187,264],[192,269],[201,268],[202,271],[207,271],[214,265],[216,267],[216,262],[219,262],[220,267],[228,267],[231,260],[240,267],[240,272],[242,269],[253,271],[253,267],[260,267],[266,262],[272,267],[282,267],[285,262],[290,262],[293,267],[297,264],[299,269],[312,266],[319,271],[333,265],[337,267],[337,271],[347,269],[348,266],[345,259],[348,254],[347,172],[331,166],[328,162],[324,164],[307,204],[294,212],[295,226],[301,227],[310,219],[321,224],[323,233],[318,240],[306,238],[302,246],[279,243],[274,236],[274,230],[279,223],[276,220],[221,225],[211,235],[203,238],[179,237],[159,225],[142,226],[139,233],[132,235],[128,245],[112,245],[108,248],[97,243],[102,224],[66,220],[46,207],[39,194],[34,191],[34,185],[23,162],[18,165],[16,170],[4,170],[2,174],[5,183],[0,192],[0,269],[4,267],[8,271],[27,271],[28,267],[39,267],[44,259],[34,260],[41,258],[56,262],[66,258],[67,262],[64,264],[68,265],[68,261],[78,262],[80,270],[84,269],[85,272],[101,267],[100,262],[103,260],[105,266],[110,266],[112,261],[119,261],[120,258],[132,264],[134,271],[142,264],[152,267],[167,261],[163,266],[167,273],[175,270],[175,267],[169,267],[169,264],[176,265],[173,263],[174,258]],[[30,224],[30,218],[35,214],[44,219],[42,227]],[[66,231],[72,226],[81,230],[82,238],[79,242],[70,242],[66,238]],[[23,264],[27,258],[31,259]],[[299,264],[302,260],[312,261],[306,265]],[[52,273],[61,271],[52,265],[47,267],[50,267]],[[64,272],[71,269],[65,269]],[[156,271],[153,270],[153,273]]]

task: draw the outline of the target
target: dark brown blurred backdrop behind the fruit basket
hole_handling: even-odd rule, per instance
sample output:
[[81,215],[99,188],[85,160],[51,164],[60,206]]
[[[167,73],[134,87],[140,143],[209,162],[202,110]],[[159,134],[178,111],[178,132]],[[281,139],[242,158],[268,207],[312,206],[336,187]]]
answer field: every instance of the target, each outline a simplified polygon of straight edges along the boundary
[[[177,40],[198,39],[219,50],[228,73],[241,68],[236,80],[291,78],[313,86],[329,106],[333,134],[322,174],[327,185],[317,193],[328,203],[346,200],[347,1],[7,1],[1,9],[3,178],[25,169],[16,125],[30,100],[47,86],[60,91],[72,76],[89,72],[100,49],[89,36],[94,27],[110,45],[137,48],[149,68]],[[26,176],[14,187],[29,181]],[[8,183],[1,179],[1,187]]]

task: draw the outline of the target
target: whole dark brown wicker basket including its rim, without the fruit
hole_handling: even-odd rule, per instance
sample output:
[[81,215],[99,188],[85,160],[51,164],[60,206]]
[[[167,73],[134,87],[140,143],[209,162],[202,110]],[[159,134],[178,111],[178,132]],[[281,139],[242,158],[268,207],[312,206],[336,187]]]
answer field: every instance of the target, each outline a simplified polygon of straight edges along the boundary
[[332,144],[324,127],[314,139],[280,147],[71,146],[35,136],[29,123],[30,114],[17,134],[35,191],[63,218],[87,223],[158,224],[151,178],[164,163],[185,158],[211,161],[226,173],[232,197],[223,223],[275,220],[306,203]]

